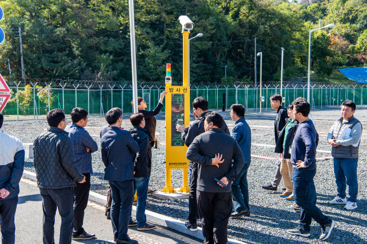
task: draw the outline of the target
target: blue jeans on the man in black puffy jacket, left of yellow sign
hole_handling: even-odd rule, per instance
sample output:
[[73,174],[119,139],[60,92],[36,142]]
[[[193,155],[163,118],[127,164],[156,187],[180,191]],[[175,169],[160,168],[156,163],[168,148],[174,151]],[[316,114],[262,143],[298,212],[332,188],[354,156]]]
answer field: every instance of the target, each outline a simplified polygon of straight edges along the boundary
[[136,177],[134,178],[134,182],[136,195],[138,196],[136,203],[136,221],[138,221],[138,227],[142,227],[146,224],[145,204],[148,198],[149,177]]

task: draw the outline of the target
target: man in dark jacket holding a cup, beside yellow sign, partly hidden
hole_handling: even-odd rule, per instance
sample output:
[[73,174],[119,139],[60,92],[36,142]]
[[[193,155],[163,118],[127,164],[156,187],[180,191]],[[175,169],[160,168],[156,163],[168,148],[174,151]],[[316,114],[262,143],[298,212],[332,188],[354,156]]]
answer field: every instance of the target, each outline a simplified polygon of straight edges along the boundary
[[[195,137],[205,132],[204,129],[204,120],[208,111],[209,103],[203,97],[197,97],[193,101],[193,114],[196,120],[188,126],[187,129],[184,129],[184,126],[176,125],[176,130],[181,132],[181,138],[184,141],[185,145],[190,146],[190,144],[194,141]],[[222,121],[221,129],[226,133],[229,133],[229,129],[224,120]],[[198,226],[196,219],[198,216],[198,203],[196,201],[196,185],[198,180],[198,164],[189,161],[189,178],[190,178],[190,193],[189,193],[189,217],[188,221],[185,223],[185,226],[191,231],[197,231]]]

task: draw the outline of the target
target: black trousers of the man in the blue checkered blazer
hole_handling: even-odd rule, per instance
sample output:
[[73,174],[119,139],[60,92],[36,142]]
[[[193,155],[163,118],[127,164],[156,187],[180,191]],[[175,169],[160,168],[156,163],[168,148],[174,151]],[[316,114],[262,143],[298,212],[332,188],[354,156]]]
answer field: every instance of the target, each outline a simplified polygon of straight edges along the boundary
[[85,176],[84,183],[76,183],[73,188],[74,195],[74,233],[79,235],[83,233],[84,210],[88,204],[90,189],[90,173],[83,174]]

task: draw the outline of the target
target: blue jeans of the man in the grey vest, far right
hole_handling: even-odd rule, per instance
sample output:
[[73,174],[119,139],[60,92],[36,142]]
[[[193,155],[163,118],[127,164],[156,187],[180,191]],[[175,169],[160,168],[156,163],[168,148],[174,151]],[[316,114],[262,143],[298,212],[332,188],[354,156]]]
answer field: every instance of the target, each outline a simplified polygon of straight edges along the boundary
[[348,201],[357,202],[358,181],[357,181],[358,158],[334,158],[334,173],[338,196],[346,196],[345,188],[348,184]]

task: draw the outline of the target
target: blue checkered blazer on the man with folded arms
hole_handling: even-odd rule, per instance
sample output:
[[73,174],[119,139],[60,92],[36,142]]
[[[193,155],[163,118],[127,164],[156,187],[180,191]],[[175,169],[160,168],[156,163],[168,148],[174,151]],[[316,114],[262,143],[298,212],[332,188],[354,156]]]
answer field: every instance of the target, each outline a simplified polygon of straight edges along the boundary
[[[74,164],[80,174],[93,173],[91,154],[98,150],[98,145],[89,133],[81,126],[71,123],[65,128],[69,134],[74,156]],[[86,151],[89,148],[89,152]]]

